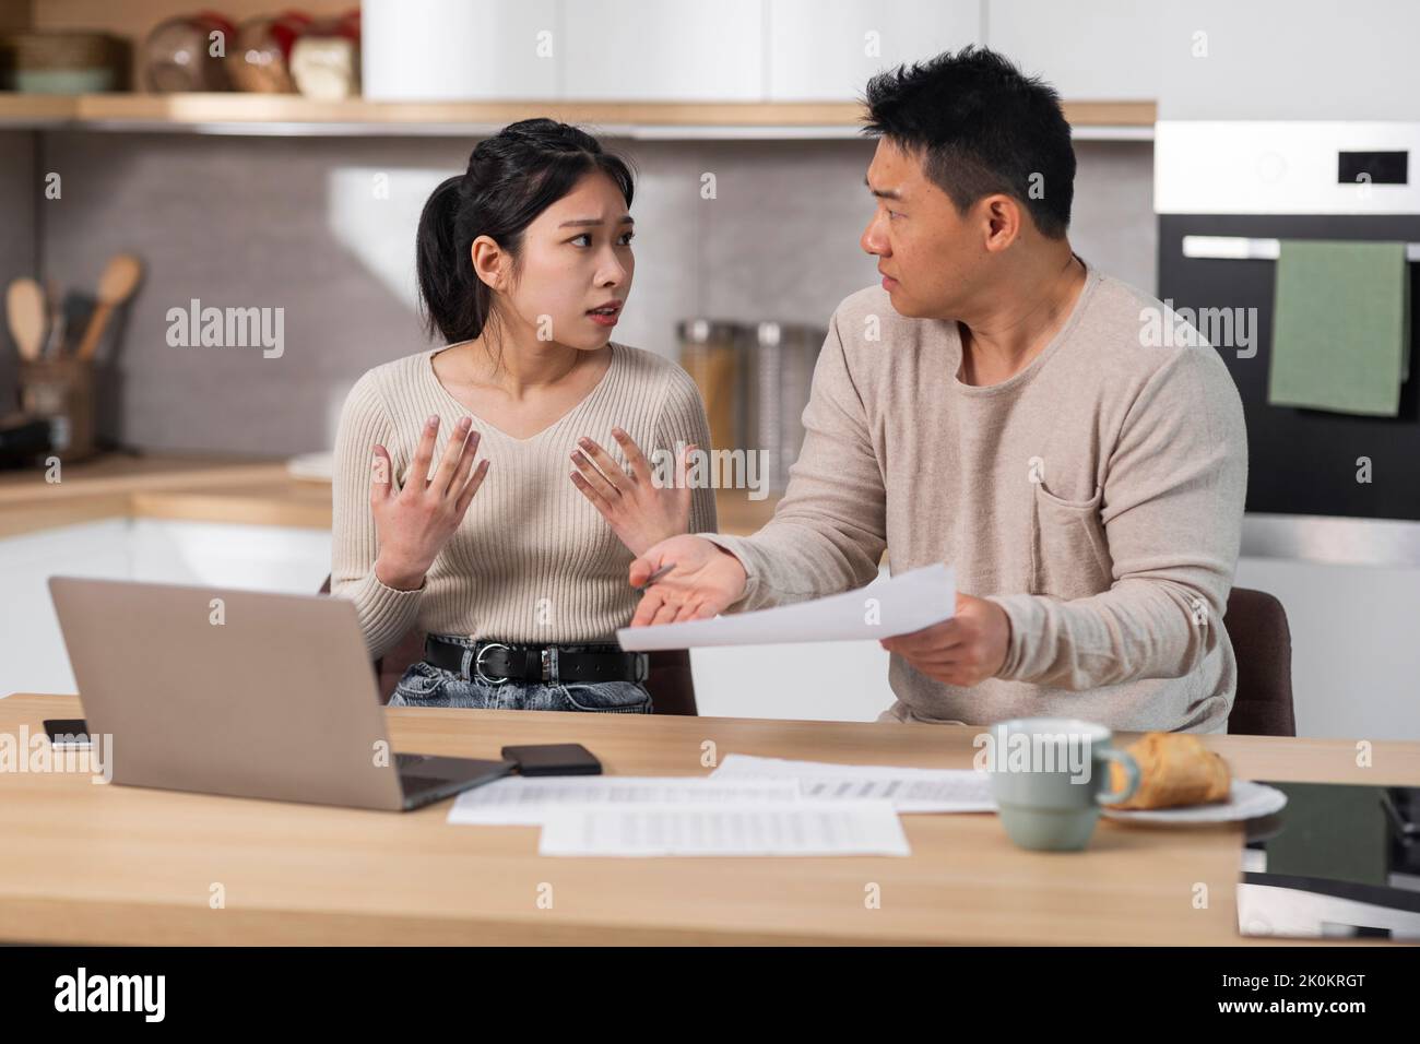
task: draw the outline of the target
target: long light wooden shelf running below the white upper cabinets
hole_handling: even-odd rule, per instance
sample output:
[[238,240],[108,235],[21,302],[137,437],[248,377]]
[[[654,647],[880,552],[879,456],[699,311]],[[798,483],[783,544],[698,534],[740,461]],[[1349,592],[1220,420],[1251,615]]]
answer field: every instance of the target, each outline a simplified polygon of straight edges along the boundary
[[[528,116],[552,116],[613,136],[856,136],[856,102],[371,102],[283,94],[0,92],[0,126],[173,131],[248,135],[477,134]],[[1152,136],[1152,101],[1071,101],[1079,136]]]

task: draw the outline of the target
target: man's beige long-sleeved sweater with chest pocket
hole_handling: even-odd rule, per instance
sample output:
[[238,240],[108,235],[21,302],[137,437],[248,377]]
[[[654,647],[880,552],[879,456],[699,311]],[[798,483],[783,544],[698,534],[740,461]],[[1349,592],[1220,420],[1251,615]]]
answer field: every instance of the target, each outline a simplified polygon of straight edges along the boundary
[[1214,348],[1145,347],[1163,305],[1086,270],[1061,331],[990,386],[957,378],[954,321],[903,318],[879,287],[846,298],[774,518],[701,534],[748,572],[731,611],[861,587],[885,548],[893,572],[947,562],[958,591],[1005,609],[997,678],[944,685],[893,655],[880,720],[1225,729],[1242,406]]

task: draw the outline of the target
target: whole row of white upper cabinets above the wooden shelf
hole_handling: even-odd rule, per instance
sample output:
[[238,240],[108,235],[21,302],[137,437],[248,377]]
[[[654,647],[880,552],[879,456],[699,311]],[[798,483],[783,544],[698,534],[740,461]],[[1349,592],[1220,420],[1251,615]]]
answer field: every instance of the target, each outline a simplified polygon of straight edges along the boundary
[[[1147,101],[1157,91],[1153,4],[1081,0],[365,0],[365,101],[663,105],[591,124],[731,125],[822,122],[814,105],[843,107],[851,128],[868,80],[971,43],[990,43],[1039,71],[1064,98]],[[760,102],[782,115],[757,116]],[[268,102],[264,102],[268,104]],[[703,115],[674,107],[714,107]],[[744,108],[736,108],[744,107]],[[99,114],[102,116],[102,114]],[[464,122],[508,122],[464,114]],[[270,116],[277,118],[277,116]],[[383,119],[376,111],[328,119]],[[426,109],[395,122],[460,118]],[[1079,124],[1137,122],[1119,109]],[[1152,119],[1152,112],[1149,115]]]

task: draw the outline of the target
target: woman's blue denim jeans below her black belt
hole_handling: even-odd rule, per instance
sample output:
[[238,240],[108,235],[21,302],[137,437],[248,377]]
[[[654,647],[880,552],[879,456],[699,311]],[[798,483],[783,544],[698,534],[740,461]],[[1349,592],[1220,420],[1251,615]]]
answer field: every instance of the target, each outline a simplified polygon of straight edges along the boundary
[[[577,652],[578,645],[559,646]],[[392,707],[477,707],[480,710],[589,710],[604,714],[649,714],[650,693],[640,682],[484,682],[415,660],[405,670]]]

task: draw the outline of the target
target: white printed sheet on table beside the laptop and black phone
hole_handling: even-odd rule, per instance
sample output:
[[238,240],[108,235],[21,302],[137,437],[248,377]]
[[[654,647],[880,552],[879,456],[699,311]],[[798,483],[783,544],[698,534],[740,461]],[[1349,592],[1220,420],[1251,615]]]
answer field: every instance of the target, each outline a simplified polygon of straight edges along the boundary
[[639,804],[720,804],[794,801],[788,777],[713,780],[709,776],[507,776],[466,790],[449,810],[449,822],[467,827],[535,827],[565,807]]

